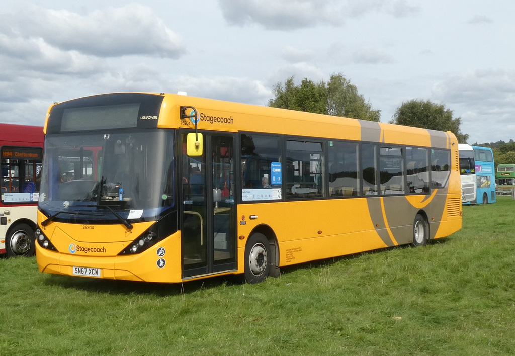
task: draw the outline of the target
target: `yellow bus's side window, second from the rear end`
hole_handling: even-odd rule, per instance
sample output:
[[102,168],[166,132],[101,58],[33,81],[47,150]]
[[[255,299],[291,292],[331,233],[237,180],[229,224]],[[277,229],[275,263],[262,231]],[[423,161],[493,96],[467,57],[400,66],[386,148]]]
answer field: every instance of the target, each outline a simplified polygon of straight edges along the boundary
[[408,193],[429,193],[427,148],[406,147],[406,184]]

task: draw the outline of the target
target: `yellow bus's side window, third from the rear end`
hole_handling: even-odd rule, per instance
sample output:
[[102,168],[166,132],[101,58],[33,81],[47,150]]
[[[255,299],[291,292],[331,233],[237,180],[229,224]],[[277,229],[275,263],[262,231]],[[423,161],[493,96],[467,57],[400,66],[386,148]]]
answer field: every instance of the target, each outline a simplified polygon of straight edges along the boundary
[[404,194],[406,184],[402,149],[399,147],[380,147],[379,154],[381,194]]

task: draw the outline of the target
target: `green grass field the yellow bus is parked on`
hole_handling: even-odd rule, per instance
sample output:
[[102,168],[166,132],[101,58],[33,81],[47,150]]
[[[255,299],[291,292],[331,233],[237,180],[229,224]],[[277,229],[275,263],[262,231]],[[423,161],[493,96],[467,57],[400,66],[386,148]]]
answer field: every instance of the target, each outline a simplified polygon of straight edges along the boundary
[[509,355],[515,201],[464,207],[463,228],[283,269],[261,284],[40,274],[0,259],[1,355]]

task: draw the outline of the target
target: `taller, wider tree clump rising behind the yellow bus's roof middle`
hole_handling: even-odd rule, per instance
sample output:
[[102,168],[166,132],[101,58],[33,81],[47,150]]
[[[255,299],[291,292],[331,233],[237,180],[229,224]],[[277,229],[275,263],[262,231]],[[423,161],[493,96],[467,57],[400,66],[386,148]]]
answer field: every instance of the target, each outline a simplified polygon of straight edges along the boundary
[[373,110],[357,88],[342,74],[333,74],[327,84],[314,83],[304,78],[300,86],[295,86],[294,78],[289,77],[277,83],[273,89],[274,98],[268,106],[290,110],[308,111],[319,114],[346,116],[362,120],[379,121],[380,110]]

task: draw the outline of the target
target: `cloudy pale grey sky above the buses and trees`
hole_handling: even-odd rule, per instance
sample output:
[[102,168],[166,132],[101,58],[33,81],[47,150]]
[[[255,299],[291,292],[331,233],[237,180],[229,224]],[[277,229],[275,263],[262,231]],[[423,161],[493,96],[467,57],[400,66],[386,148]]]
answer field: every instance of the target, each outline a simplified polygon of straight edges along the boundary
[[294,77],[342,74],[388,122],[411,99],[468,143],[515,139],[515,2],[0,0],[0,122],[108,92],[266,106]]

